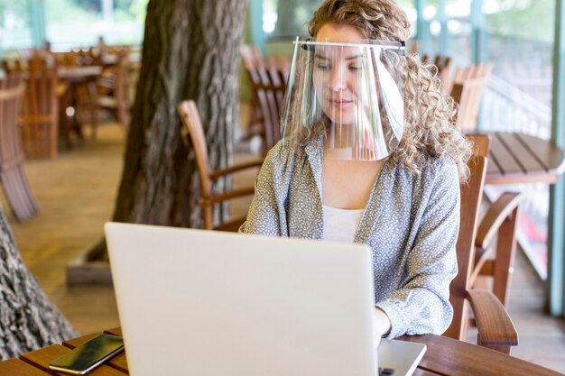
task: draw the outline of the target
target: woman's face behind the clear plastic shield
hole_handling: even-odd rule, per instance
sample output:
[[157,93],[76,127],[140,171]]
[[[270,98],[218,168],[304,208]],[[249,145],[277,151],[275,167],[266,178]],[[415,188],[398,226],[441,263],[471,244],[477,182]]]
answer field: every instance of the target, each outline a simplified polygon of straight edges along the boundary
[[[317,41],[359,43],[363,35],[352,26],[327,23],[316,35]],[[316,97],[329,119],[336,124],[354,124],[357,114],[358,75],[363,55],[357,47],[329,46],[316,49],[313,81]]]

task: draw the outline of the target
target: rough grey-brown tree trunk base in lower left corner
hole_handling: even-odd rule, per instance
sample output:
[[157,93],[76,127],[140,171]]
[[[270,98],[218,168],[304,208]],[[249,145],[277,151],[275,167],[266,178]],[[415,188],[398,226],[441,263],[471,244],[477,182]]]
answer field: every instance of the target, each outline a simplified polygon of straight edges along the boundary
[[76,335],[23,264],[0,206],[0,360]]

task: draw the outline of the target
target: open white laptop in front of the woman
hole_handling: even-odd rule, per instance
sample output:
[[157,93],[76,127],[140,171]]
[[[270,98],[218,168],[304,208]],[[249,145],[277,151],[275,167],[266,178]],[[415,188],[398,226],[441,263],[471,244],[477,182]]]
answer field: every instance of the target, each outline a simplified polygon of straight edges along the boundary
[[410,375],[424,344],[375,352],[365,244],[107,223],[132,376]]

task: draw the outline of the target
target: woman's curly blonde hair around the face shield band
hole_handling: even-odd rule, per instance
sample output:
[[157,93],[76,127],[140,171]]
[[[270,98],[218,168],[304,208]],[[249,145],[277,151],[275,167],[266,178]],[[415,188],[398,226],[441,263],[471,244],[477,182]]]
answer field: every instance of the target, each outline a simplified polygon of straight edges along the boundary
[[[410,23],[394,0],[327,0],[309,23],[310,35],[316,36],[325,24],[352,26],[366,39],[406,41]],[[467,161],[471,144],[455,124],[457,104],[440,92],[437,69],[425,65],[418,55],[403,57],[404,131],[391,160],[395,165],[419,173],[419,165],[429,158],[447,155],[455,162],[459,179],[468,179]]]

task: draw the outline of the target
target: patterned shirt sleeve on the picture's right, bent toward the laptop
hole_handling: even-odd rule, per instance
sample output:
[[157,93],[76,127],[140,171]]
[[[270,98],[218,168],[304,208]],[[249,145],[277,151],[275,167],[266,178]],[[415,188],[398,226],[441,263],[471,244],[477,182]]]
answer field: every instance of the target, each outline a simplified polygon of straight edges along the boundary
[[457,275],[460,191],[458,171],[443,160],[426,181],[431,186],[421,201],[421,220],[399,289],[376,303],[391,320],[388,338],[400,335],[440,335],[453,317],[449,283]]

